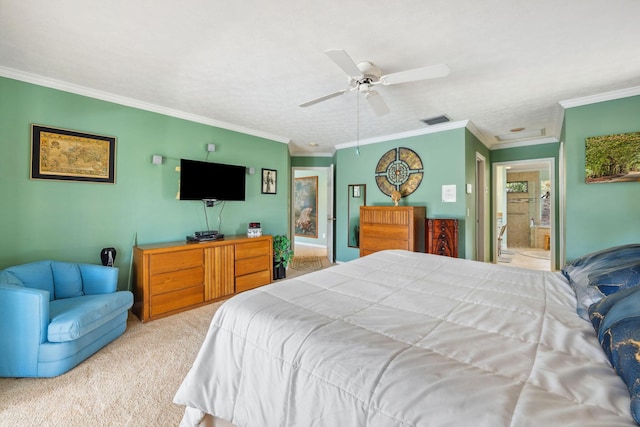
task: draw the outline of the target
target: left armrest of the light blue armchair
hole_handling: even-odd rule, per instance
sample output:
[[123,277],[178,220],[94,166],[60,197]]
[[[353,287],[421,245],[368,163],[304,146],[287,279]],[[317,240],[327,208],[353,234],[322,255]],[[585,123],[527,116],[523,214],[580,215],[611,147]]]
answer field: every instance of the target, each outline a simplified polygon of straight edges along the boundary
[[0,283],[0,376],[33,376],[47,341],[49,292]]

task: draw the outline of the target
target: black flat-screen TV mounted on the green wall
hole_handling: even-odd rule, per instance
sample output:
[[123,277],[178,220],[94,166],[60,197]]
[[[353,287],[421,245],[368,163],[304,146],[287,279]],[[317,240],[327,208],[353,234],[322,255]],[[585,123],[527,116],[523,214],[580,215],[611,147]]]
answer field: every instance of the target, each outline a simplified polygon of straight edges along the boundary
[[180,159],[180,200],[245,199],[246,168]]

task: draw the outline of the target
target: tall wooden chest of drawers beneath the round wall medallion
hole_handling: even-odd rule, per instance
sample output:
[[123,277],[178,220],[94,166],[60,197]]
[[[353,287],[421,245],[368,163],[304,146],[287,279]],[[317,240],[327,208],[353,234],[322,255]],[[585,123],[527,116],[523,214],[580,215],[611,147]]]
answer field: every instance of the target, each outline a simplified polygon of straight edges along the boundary
[[361,206],[360,256],[384,249],[424,252],[424,206]]

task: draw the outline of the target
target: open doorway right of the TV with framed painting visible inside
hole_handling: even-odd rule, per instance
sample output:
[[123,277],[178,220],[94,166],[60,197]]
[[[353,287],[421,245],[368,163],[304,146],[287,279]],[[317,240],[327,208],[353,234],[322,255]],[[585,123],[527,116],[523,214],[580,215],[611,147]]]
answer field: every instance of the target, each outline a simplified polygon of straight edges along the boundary
[[[333,165],[329,167],[293,167],[291,185],[291,241],[294,256],[317,256],[333,263]],[[296,193],[297,180],[304,181],[316,177],[317,203],[312,211],[307,208],[305,215],[313,218],[315,233],[298,233],[296,223],[300,221],[300,194]]]

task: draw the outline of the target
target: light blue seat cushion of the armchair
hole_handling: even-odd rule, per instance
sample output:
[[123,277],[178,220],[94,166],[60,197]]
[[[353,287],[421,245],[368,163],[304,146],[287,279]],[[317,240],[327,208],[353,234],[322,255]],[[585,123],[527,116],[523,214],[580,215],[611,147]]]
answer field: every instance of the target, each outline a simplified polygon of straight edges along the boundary
[[73,341],[127,311],[133,304],[131,292],[84,295],[51,301],[47,330],[49,342]]

